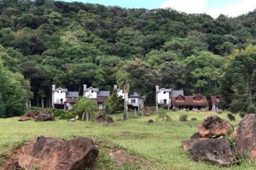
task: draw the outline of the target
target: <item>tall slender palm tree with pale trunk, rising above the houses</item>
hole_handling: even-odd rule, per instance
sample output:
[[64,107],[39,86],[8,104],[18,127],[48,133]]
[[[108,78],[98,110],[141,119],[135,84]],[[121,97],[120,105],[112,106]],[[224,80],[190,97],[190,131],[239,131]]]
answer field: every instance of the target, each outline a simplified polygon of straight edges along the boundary
[[119,71],[117,74],[117,85],[124,89],[124,113],[127,113],[128,91],[132,86],[131,74],[127,71]]

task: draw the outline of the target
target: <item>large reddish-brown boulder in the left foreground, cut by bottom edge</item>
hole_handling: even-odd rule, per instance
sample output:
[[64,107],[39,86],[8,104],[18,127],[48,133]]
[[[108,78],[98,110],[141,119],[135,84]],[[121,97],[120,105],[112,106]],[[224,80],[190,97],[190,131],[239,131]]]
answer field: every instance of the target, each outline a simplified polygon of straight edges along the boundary
[[64,141],[42,136],[21,147],[21,151],[18,166],[23,169],[89,169],[98,156],[98,149],[88,137]]

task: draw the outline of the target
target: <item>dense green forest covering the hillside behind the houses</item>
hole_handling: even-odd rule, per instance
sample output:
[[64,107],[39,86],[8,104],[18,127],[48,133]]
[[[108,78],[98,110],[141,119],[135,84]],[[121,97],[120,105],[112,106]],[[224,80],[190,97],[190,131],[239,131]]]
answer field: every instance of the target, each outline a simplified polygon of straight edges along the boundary
[[[256,11],[214,20],[173,9],[53,0],[0,0],[0,9],[0,72],[7,77],[0,84],[16,93],[9,103],[31,99],[40,106],[44,99],[50,106],[52,84],[111,90],[120,70],[131,74],[132,89],[149,104],[156,85],[187,95],[222,94],[223,107],[234,111],[255,103]],[[3,91],[0,105],[8,98]],[[23,110],[4,108],[2,116]]]

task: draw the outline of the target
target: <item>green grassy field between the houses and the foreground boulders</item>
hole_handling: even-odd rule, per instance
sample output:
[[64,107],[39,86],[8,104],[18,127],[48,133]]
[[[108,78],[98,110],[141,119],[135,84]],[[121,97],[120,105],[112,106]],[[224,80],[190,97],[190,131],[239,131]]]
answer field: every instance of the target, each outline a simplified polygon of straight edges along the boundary
[[[179,122],[181,114],[188,115],[189,121]],[[115,122],[108,127],[96,122],[18,122],[18,117],[0,119],[0,155],[3,159],[13,147],[25,144],[40,135],[62,139],[72,139],[81,135],[93,138],[100,147],[97,160],[99,169],[255,169],[256,166],[248,164],[247,161],[241,166],[230,168],[194,162],[189,153],[182,149],[182,140],[189,139],[197,132],[199,122],[209,115],[227,119],[226,113],[170,111],[168,115],[172,121],[166,122],[165,126],[161,122],[148,125],[148,120],[155,120],[156,115],[130,118],[126,122]],[[120,118],[120,115],[117,117]],[[191,118],[197,118],[197,121],[191,121]],[[236,127],[240,120],[240,116],[236,115],[233,125]],[[122,133],[124,131],[131,133]],[[134,154],[137,157],[136,161],[122,167],[116,166],[108,156],[107,150],[117,146]]]

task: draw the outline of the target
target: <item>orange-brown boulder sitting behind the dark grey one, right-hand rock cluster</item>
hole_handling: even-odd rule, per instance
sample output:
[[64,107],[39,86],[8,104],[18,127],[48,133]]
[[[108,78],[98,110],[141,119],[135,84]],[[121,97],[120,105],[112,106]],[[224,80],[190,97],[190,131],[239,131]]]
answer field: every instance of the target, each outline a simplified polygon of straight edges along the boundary
[[231,132],[233,126],[230,122],[218,116],[209,116],[198,125],[201,137],[211,138],[214,136],[226,135]]

